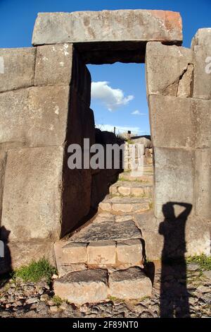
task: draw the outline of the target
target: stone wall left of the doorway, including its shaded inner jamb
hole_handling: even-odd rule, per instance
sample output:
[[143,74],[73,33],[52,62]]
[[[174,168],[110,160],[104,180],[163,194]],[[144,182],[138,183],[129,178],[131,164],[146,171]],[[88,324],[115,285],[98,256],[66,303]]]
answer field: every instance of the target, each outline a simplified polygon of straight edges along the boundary
[[91,205],[91,171],[67,163],[70,143],[95,141],[90,74],[72,44],[0,49],[0,57],[1,239],[13,266],[53,260],[52,242]]

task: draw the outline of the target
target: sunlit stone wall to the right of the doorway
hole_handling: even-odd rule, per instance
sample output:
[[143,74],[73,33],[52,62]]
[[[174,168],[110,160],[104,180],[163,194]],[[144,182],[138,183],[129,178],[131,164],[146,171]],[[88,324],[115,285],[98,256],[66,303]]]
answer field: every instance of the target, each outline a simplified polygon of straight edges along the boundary
[[[211,75],[205,71],[210,45],[211,30],[201,29],[191,49],[160,42],[146,47],[155,216],[164,218],[167,202],[191,204],[186,225],[190,254],[210,254]],[[179,210],[176,206],[176,215]]]

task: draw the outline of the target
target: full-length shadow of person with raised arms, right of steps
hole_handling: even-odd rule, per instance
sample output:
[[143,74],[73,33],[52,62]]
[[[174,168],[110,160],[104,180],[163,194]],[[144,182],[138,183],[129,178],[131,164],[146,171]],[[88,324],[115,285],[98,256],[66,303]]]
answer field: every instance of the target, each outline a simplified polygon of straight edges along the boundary
[[[177,217],[174,207],[184,208]],[[162,206],[165,220],[160,223],[159,233],[164,237],[160,280],[160,317],[188,318],[188,290],[186,285],[185,228],[192,205],[168,202]]]

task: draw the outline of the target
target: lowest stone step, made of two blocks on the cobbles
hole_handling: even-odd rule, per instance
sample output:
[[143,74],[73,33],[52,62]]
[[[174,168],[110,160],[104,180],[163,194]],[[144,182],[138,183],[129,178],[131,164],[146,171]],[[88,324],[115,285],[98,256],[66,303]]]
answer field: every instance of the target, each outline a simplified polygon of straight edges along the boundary
[[55,295],[70,303],[102,302],[109,297],[140,300],[151,296],[151,280],[138,267],[108,273],[106,269],[87,269],[68,273],[54,281]]

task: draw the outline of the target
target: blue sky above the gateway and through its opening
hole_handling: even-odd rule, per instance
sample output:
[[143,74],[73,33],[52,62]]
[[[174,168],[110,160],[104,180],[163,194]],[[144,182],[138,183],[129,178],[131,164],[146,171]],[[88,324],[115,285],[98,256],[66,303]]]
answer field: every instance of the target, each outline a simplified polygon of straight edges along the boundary
[[[211,27],[211,0],[0,0],[0,47],[30,47],[38,12],[103,9],[179,11],[184,25],[185,47],[190,47],[198,28]],[[131,129],[137,134],[149,134],[144,65],[89,65],[89,71],[92,81],[103,82],[95,86],[94,96],[99,97],[102,89],[110,95],[110,102],[102,97],[91,101],[96,124],[102,129],[117,126],[120,131]],[[136,114],[132,114],[134,112]]]

